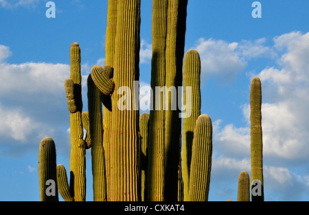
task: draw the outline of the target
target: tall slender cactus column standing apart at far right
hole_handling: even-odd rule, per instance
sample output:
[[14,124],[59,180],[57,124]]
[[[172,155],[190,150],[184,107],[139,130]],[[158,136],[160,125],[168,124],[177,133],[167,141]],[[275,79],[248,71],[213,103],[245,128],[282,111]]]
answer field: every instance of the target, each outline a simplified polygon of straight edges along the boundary
[[[251,121],[251,183],[261,182],[261,196],[251,195],[252,201],[264,201],[263,188],[263,142],[262,142],[262,86],[258,77],[251,81],[250,92]],[[252,188],[251,188],[252,189]]]

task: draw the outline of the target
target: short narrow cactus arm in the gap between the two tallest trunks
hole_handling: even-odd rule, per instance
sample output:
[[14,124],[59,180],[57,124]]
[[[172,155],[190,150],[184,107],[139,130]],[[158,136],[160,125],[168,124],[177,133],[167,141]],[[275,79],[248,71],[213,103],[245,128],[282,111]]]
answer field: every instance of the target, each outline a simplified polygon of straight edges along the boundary
[[139,116],[139,134],[141,135],[141,201],[147,200],[147,146],[148,146],[148,122],[149,114],[143,113]]

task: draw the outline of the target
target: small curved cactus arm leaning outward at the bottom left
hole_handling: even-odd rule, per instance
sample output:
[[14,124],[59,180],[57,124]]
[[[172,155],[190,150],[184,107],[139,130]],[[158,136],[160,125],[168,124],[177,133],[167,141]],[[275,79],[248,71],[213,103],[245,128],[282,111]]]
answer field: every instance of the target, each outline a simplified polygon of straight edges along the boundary
[[62,164],[57,165],[57,183],[61,197],[65,201],[74,201],[67,181],[67,170]]

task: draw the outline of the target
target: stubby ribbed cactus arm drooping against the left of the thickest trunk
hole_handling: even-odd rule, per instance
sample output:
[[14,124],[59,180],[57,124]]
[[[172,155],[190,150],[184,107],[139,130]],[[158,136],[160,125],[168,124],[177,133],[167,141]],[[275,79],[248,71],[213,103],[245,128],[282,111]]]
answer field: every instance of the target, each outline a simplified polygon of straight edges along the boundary
[[91,68],[91,77],[103,94],[111,94],[113,92],[115,84],[101,66],[95,65]]

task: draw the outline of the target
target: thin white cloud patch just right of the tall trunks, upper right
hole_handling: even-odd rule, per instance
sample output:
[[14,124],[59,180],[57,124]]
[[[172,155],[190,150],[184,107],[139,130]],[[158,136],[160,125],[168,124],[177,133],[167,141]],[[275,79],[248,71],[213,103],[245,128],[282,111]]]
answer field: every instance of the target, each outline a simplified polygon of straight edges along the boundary
[[229,83],[236,75],[244,71],[249,60],[275,58],[277,54],[265,43],[265,38],[240,42],[226,42],[212,38],[198,39],[196,46],[192,49],[196,49],[201,55],[202,81],[215,75],[220,81]]

